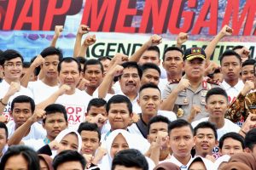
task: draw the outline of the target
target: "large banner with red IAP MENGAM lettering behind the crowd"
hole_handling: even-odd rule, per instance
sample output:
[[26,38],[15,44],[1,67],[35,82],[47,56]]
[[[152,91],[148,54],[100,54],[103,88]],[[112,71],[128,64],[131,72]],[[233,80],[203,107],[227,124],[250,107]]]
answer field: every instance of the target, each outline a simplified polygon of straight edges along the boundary
[[57,46],[72,56],[80,24],[96,34],[97,47],[115,40],[136,44],[152,34],[174,41],[181,31],[189,33],[189,43],[201,46],[229,25],[233,36],[225,37],[219,50],[229,42],[252,48],[255,13],[255,0],[1,0],[0,49],[14,48],[29,60],[49,46],[55,26],[64,26]]

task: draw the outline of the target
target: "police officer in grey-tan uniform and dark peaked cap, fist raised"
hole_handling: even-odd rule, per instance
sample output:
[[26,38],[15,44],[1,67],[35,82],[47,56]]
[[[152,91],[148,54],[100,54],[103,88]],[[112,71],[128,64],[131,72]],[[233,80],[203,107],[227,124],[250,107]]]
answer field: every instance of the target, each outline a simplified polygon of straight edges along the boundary
[[[199,120],[208,116],[205,112],[207,91],[220,87],[217,81],[204,77],[206,53],[202,48],[189,48],[183,55],[185,75],[172,80],[163,92],[162,110],[174,111],[177,117]],[[190,112],[194,115],[189,117]]]

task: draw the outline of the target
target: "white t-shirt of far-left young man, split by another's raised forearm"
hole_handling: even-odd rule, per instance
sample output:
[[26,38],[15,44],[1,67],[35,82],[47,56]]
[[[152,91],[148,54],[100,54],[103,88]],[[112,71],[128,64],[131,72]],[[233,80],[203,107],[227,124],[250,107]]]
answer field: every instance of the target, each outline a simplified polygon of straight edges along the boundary
[[[15,133],[15,122],[10,121],[6,124],[8,128],[8,138],[10,138]],[[30,127],[30,132],[23,137],[21,140],[28,140],[28,139],[44,139],[46,136],[46,131],[44,127],[38,122],[34,122]]]

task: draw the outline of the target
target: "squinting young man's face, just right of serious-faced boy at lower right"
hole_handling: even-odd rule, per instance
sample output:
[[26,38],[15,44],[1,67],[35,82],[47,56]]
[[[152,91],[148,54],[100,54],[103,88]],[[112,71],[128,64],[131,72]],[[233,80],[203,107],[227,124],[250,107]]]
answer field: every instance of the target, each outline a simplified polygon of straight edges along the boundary
[[212,155],[214,146],[218,145],[212,128],[198,128],[195,134],[195,151],[197,156]]

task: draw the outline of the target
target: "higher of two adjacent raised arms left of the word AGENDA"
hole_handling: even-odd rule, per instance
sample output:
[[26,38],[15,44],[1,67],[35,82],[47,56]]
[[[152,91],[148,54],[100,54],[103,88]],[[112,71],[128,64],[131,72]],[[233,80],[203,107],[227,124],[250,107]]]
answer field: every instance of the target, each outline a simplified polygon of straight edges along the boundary
[[90,31],[89,26],[84,26],[84,25],[79,26],[79,30],[78,30],[78,33],[77,33],[77,36],[76,36],[75,45],[74,45],[74,48],[73,48],[73,57],[74,58],[79,56],[82,37],[83,37],[84,34],[87,34],[88,31]]

